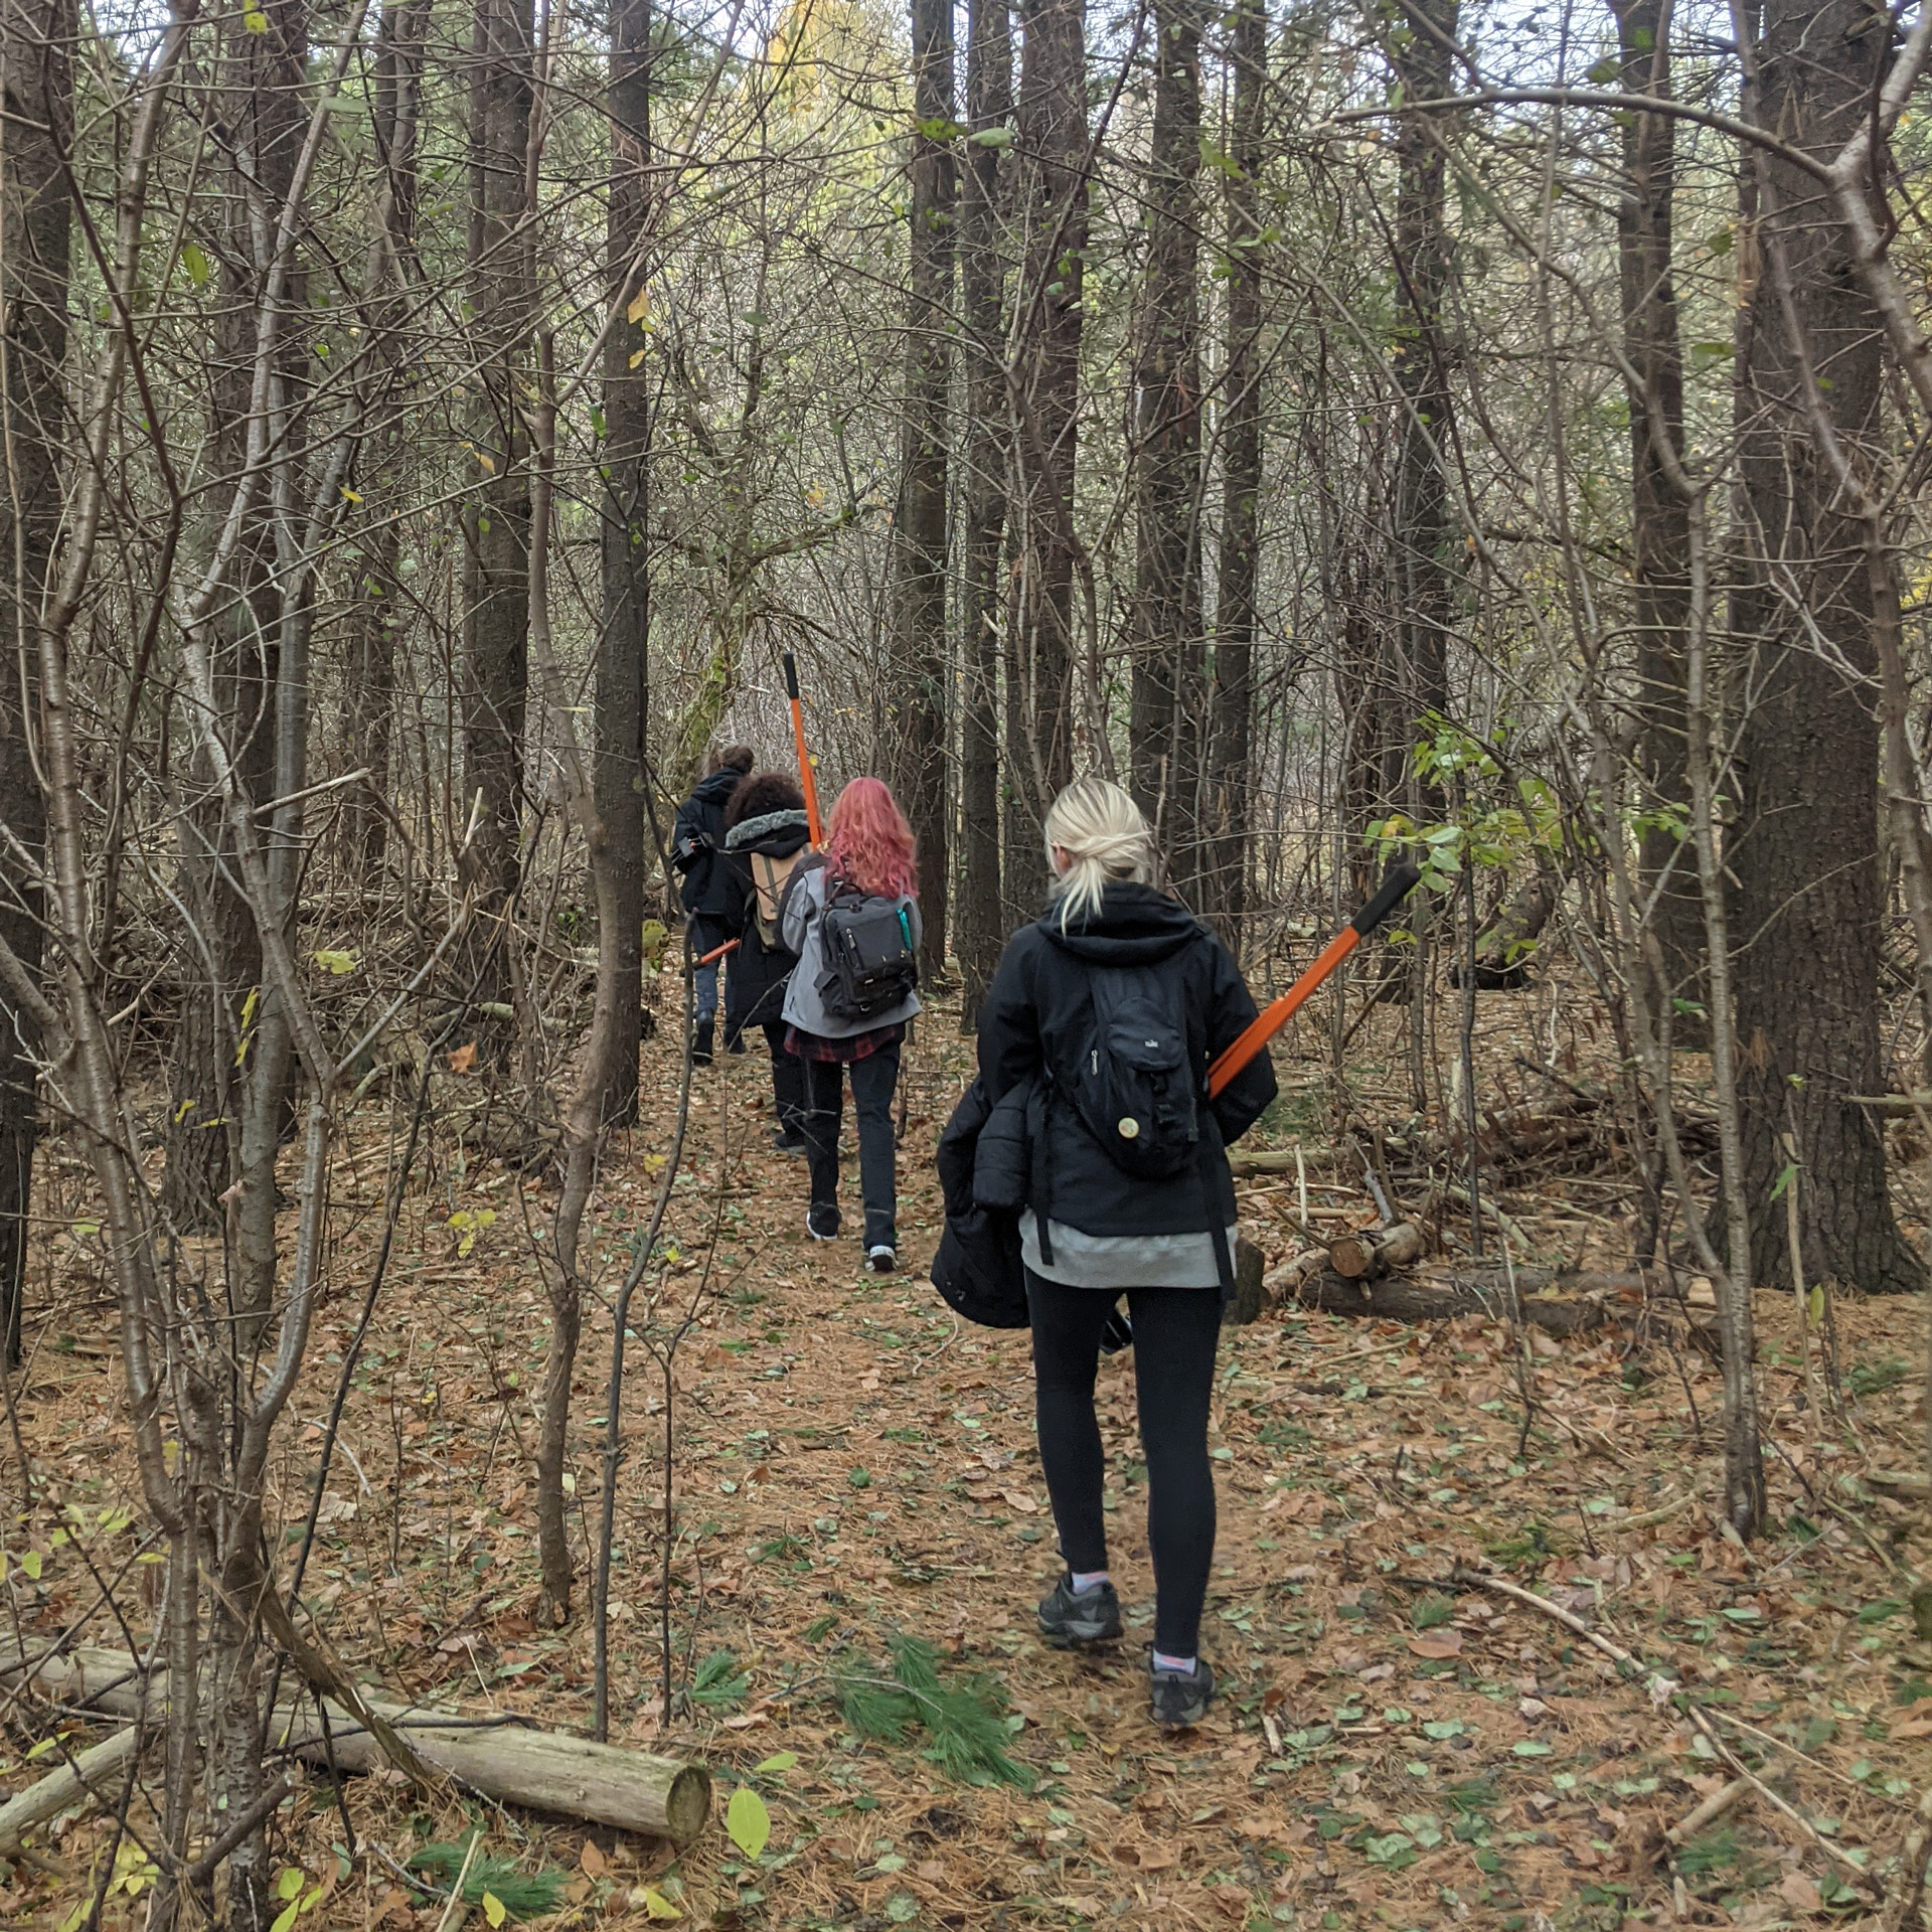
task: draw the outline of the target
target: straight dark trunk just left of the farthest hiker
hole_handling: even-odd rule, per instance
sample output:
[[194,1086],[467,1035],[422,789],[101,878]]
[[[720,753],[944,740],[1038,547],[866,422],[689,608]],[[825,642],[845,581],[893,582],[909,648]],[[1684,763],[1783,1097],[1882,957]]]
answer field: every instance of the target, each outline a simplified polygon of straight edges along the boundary
[[[593,786],[618,925],[614,1032],[603,1068],[607,1121],[638,1119],[643,1003],[643,788],[651,692],[651,396],[645,298],[651,236],[651,0],[611,0],[611,209],[607,272],[616,321],[605,340],[603,632],[597,638]],[[599,935],[603,945],[603,935]]]

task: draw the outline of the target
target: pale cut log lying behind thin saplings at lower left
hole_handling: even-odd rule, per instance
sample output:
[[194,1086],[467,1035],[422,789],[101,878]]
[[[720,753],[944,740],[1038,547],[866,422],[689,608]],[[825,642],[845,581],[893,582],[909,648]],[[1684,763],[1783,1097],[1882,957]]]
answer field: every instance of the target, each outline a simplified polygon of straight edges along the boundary
[[[131,1716],[141,1694],[141,1663],[126,1650],[79,1646],[62,1656],[23,1660],[17,1646],[0,1652],[0,1677],[31,1675],[68,1704],[116,1718]],[[168,1679],[149,1681],[149,1712],[164,1712]],[[460,1785],[529,1810],[560,1812],[589,1824],[609,1824],[645,1837],[690,1843],[711,1816],[711,1774],[682,1758],[659,1758],[618,1745],[524,1727],[518,1719],[479,1719],[421,1704],[365,1698],[383,1725],[410,1739],[417,1758]],[[334,1698],[327,1700],[328,1743],[315,1702],[286,1700],[269,1727],[270,1750],[307,1764],[371,1772],[386,1758],[377,1737]],[[332,1747],[332,1748],[330,1748]]]

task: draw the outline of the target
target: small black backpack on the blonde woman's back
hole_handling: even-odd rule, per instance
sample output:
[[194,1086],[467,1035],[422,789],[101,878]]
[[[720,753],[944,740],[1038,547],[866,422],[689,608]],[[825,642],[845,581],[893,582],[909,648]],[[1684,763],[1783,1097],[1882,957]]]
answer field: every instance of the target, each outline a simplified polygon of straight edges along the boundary
[[1094,1020],[1078,1065],[1055,1084],[1113,1163],[1140,1180],[1171,1180],[1200,1155],[1200,1078],[1177,974],[1146,966],[1092,970]]

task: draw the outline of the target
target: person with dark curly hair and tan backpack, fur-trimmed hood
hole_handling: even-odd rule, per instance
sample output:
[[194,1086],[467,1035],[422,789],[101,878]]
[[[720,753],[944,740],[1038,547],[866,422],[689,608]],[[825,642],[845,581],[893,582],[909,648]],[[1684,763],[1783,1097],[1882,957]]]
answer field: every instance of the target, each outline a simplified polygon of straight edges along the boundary
[[724,981],[724,1045],[736,1051],[746,1028],[765,1032],[771,1051],[771,1097],[781,1153],[804,1153],[806,1068],[784,1045],[784,985],[798,954],[779,931],[779,898],[800,852],[811,842],[806,794],[782,771],[753,771],[738,781],[724,808],[724,856],[744,879],[740,945]]

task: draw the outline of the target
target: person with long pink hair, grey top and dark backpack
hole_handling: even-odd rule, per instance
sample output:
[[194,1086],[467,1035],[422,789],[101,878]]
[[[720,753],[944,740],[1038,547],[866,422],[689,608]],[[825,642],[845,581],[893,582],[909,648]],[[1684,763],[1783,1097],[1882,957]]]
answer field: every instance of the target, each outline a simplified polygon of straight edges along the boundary
[[[842,983],[837,949],[850,922],[896,931],[900,976],[852,997]],[[852,1082],[858,1115],[858,1171],[866,1202],[866,1260],[881,1275],[898,1267],[898,1150],[893,1095],[906,1022],[920,1010],[914,991],[920,951],[918,854],[912,827],[879,779],[854,779],[833,806],[825,850],[802,860],[781,912],[784,943],[798,954],[784,993],[786,1045],[806,1068],[806,1165],[811,1206],[806,1233],[837,1240],[838,1130],[844,1084]],[[850,949],[848,949],[850,951]],[[848,981],[850,976],[846,976]]]

